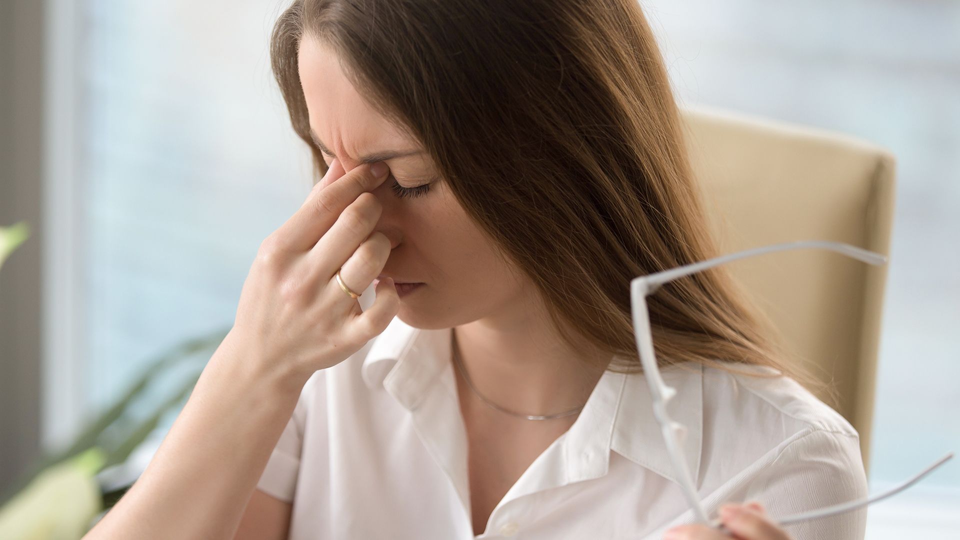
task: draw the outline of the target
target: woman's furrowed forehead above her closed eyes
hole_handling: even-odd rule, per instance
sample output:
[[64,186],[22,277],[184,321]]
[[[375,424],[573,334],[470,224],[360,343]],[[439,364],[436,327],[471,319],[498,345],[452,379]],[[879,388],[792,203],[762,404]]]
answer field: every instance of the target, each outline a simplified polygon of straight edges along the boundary
[[303,36],[298,65],[310,126],[342,160],[417,147],[364,99],[344,74],[339,57],[320,40]]

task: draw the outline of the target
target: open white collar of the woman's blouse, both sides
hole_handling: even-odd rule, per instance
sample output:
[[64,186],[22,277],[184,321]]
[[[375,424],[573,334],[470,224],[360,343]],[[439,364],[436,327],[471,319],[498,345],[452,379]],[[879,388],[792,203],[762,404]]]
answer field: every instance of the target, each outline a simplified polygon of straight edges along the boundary
[[[448,364],[450,329],[417,329],[394,317],[372,343],[361,368],[368,387],[384,388],[415,410]],[[663,367],[663,381],[677,389],[667,404],[671,418],[684,425],[680,445],[694,482],[699,485],[703,447],[703,366],[693,362]],[[604,372],[577,421],[564,433],[569,481],[606,474],[610,451],[663,478],[679,481],[651,405],[641,373]]]

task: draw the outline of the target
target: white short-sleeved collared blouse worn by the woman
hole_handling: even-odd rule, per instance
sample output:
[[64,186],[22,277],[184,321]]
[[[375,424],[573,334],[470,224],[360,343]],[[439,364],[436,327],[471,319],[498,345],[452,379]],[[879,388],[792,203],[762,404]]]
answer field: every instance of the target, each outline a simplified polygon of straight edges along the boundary
[[[395,317],[307,381],[257,484],[293,503],[291,539],[474,537],[450,338]],[[686,456],[711,517],[727,502],[756,500],[782,516],[866,496],[856,431],[794,380],[699,364],[663,378],[678,390],[670,412],[688,429]],[[796,540],[862,539],[866,516],[786,529]],[[654,539],[691,522],[646,381],[608,371],[476,538]]]

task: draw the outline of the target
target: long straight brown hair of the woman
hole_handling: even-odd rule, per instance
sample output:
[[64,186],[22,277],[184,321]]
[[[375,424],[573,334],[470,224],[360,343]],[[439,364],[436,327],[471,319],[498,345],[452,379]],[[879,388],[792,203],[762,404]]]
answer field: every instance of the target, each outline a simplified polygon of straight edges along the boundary
[[[586,340],[622,359],[608,369],[639,371],[630,281],[716,248],[636,0],[296,0],[276,21],[271,56],[320,178],[297,64],[304,33],[420,140],[569,345]],[[784,360],[723,269],[648,301],[661,364],[763,365],[816,384]]]

